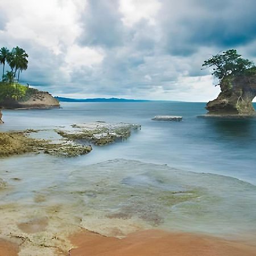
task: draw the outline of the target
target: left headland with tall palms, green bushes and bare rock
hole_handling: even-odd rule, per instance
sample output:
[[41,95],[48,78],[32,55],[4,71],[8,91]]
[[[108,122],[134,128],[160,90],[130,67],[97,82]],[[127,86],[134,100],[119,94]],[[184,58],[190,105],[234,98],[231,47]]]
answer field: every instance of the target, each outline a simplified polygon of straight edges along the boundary
[[[0,82],[0,108],[59,108],[59,101],[48,92],[41,92],[30,88],[29,84],[19,83],[20,74],[28,67],[27,58],[26,51],[18,46],[11,51],[6,47],[0,49],[0,63],[3,65],[2,81]],[[9,65],[9,70],[5,72],[6,64]],[[0,120],[1,117],[2,114],[0,114]]]

